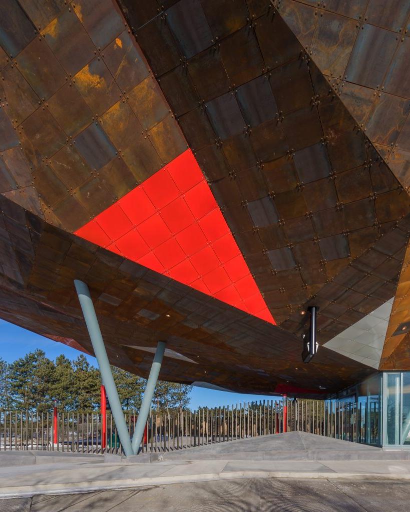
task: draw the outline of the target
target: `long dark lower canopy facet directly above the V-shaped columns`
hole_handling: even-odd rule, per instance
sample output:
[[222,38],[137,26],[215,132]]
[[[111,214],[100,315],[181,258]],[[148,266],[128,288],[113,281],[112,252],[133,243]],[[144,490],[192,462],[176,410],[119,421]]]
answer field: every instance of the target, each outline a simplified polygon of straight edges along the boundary
[[0,205],[7,255],[0,315],[8,321],[16,321],[18,310],[19,325],[92,353],[72,283],[77,278],[90,286],[110,361],[140,375],[148,375],[152,357],[126,345],[153,347],[159,338],[199,362],[167,360],[161,379],[206,380],[242,392],[292,394],[295,387],[320,396],[319,386],[334,392],[373,371],[326,349],[301,368],[297,336],[81,241],[5,198]]

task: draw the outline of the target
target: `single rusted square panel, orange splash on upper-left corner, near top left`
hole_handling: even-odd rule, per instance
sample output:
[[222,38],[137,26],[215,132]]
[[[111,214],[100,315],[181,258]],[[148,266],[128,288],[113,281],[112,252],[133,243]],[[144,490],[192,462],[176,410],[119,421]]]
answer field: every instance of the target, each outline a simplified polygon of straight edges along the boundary
[[96,48],[73,9],[49,21],[41,33],[66,73],[75,75],[94,58]]

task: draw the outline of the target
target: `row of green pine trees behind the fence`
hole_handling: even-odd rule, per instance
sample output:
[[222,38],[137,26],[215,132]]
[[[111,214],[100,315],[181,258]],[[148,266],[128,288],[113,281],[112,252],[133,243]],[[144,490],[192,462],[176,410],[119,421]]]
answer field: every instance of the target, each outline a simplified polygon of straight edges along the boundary
[[[125,411],[138,412],[146,379],[111,367],[119,399]],[[34,350],[11,363],[0,358],[0,409],[50,411],[54,400],[61,410],[91,412],[100,408],[101,376],[80,354],[55,361],[43,350]],[[153,408],[157,412],[186,409],[192,386],[158,381]]]

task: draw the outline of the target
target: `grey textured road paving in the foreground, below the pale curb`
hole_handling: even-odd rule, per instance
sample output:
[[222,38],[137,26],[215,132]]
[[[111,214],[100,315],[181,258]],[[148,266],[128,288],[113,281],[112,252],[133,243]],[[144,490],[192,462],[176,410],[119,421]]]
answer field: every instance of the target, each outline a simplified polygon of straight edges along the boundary
[[13,501],[10,506],[11,500],[0,500],[0,512],[404,512],[410,501],[410,484],[240,479],[39,495]]

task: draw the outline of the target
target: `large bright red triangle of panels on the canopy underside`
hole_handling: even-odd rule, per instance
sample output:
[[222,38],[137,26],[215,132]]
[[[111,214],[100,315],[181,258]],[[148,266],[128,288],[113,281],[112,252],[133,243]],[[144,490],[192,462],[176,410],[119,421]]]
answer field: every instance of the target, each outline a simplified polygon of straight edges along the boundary
[[275,323],[191,150],[76,234]]

